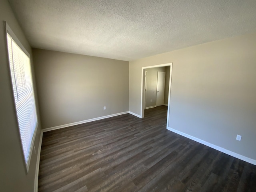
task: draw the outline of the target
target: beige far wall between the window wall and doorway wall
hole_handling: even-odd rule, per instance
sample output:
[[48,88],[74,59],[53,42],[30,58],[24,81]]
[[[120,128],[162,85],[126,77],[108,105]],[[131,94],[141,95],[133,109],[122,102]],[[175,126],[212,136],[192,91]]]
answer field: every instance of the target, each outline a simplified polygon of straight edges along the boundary
[[33,56],[42,128],[128,111],[129,62],[41,49]]

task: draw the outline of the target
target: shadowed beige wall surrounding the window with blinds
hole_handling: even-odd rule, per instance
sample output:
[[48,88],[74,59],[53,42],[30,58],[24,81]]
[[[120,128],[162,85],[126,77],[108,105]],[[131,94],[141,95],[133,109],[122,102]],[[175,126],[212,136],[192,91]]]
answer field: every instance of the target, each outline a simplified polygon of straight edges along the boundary
[[[37,149],[40,139],[40,123],[32,153],[30,168],[26,174],[20,136],[16,121],[16,112],[10,81],[8,52],[6,48],[5,20],[22,45],[30,53],[33,71],[32,51],[7,0],[0,1],[0,190],[4,192],[30,192],[34,190]],[[35,88],[36,91],[36,88]],[[38,108],[38,105],[37,105]],[[39,119],[39,115],[38,115]],[[40,119],[39,119],[40,120]]]

